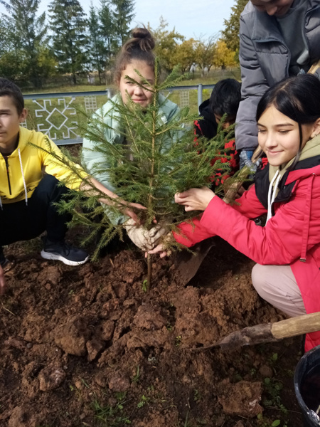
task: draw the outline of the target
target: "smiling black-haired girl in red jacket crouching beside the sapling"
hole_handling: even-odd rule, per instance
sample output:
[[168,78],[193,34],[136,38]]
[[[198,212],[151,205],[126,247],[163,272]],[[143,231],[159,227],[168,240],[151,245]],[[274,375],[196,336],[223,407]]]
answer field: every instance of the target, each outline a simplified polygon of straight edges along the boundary
[[[267,90],[257,107],[258,141],[269,164],[233,206],[208,188],[176,194],[204,211],[174,237],[193,246],[218,235],[255,260],[252,283],[290,316],[320,311],[320,81],[299,75]],[[250,218],[267,214],[265,227]],[[158,246],[153,252],[163,251]],[[164,255],[162,253],[161,255]],[[306,337],[306,350],[320,333]]]

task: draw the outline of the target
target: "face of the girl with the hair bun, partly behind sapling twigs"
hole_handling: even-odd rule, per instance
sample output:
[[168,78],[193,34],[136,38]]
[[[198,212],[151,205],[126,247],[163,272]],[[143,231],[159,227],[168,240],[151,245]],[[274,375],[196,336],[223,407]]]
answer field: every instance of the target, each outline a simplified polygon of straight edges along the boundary
[[[152,92],[139,87],[126,78],[127,75],[130,78],[133,78],[137,83],[144,84],[144,80],[134,70],[138,70],[150,85],[154,85],[153,68],[144,61],[133,60],[132,63],[129,63],[121,73],[119,91],[122,96],[122,101],[124,104],[127,104],[129,96],[136,104],[139,104],[142,107],[147,107],[152,100]],[[144,85],[144,87],[147,88],[146,85]]]

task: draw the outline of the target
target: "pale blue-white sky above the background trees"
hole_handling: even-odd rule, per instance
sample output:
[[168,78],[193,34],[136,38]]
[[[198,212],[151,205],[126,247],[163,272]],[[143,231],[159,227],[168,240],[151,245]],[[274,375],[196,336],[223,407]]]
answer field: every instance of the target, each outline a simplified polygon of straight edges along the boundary
[[[79,0],[87,13],[91,0]],[[39,13],[48,9],[50,0],[42,0]],[[162,15],[169,23],[168,29],[176,31],[186,38],[197,38],[200,35],[208,38],[223,30],[223,19],[230,18],[231,6],[235,0],[135,0],[135,18],[133,26],[149,22],[151,28],[159,26]],[[100,6],[100,1],[93,1]],[[4,11],[4,6],[0,6]]]

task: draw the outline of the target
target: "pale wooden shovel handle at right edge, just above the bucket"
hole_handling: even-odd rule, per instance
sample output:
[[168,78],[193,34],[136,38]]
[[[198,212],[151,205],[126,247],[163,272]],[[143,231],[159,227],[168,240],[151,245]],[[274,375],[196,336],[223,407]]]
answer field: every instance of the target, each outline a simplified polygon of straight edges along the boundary
[[320,331],[320,312],[272,323],[271,332],[274,338],[282,339]]

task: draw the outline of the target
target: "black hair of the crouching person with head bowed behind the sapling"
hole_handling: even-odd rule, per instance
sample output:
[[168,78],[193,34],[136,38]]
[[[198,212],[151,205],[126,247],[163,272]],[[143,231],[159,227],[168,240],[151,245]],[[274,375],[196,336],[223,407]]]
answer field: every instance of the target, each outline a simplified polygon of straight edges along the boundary
[[241,83],[234,78],[218,81],[210,96],[210,107],[214,114],[235,117],[241,100]]

